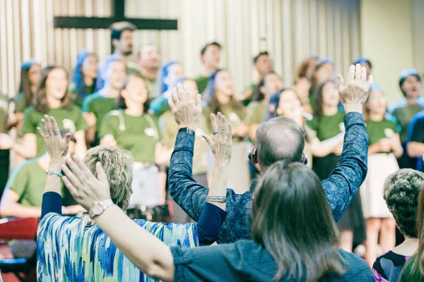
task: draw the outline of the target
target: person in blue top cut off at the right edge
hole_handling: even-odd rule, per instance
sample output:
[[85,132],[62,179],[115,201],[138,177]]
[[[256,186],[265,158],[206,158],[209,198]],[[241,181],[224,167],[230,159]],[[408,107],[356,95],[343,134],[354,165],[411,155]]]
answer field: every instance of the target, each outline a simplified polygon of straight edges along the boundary
[[413,116],[409,123],[406,149],[410,158],[417,159],[415,169],[424,171],[424,110]]

